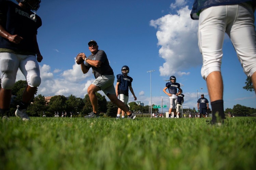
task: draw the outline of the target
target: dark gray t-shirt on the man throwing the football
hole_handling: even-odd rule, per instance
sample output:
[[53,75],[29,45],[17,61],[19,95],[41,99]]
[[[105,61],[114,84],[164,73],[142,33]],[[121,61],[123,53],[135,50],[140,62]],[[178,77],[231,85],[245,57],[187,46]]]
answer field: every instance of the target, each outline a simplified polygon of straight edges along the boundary
[[103,50],[98,50],[97,53],[88,56],[90,60],[97,60],[101,62],[100,67],[93,67],[85,62],[86,69],[93,69],[94,77],[97,79],[101,75],[114,75],[112,68],[109,65],[108,57]]

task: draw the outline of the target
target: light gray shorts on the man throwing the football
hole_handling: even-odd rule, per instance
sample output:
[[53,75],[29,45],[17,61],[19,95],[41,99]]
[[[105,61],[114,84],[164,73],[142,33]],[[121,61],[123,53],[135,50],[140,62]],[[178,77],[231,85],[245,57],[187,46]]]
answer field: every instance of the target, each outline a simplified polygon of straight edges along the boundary
[[100,77],[95,79],[92,84],[99,87],[107,96],[108,94],[116,95],[114,81],[114,75],[101,75]]

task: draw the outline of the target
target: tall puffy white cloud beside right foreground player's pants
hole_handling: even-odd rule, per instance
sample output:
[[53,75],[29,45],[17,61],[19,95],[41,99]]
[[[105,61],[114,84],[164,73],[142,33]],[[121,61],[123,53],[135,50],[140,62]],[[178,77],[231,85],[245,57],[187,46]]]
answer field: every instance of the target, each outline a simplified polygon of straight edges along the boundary
[[[178,2],[181,1],[175,4]],[[190,18],[188,6],[178,10],[176,15],[151,20],[150,25],[158,30],[159,55],[165,60],[159,67],[161,76],[188,75],[186,70],[202,62],[197,45],[198,21]]]

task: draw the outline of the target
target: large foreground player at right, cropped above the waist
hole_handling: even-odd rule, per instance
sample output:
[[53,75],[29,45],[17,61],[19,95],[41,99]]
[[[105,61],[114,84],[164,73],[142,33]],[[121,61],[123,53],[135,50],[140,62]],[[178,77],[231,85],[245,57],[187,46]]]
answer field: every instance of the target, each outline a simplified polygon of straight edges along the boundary
[[225,119],[221,61],[225,33],[230,37],[244,73],[256,92],[255,0],[195,0],[191,18],[198,20],[198,46],[202,53],[201,74],[206,80],[212,106],[211,124]]

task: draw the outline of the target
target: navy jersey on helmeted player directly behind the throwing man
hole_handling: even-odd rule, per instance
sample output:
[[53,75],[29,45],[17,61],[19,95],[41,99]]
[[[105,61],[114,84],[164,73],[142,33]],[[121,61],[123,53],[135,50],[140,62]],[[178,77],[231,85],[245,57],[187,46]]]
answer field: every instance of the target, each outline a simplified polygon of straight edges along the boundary
[[118,95],[124,94],[129,95],[129,86],[131,86],[132,78],[130,76],[124,76],[123,74],[116,75],[117,82],[120,82],[118,86]]

